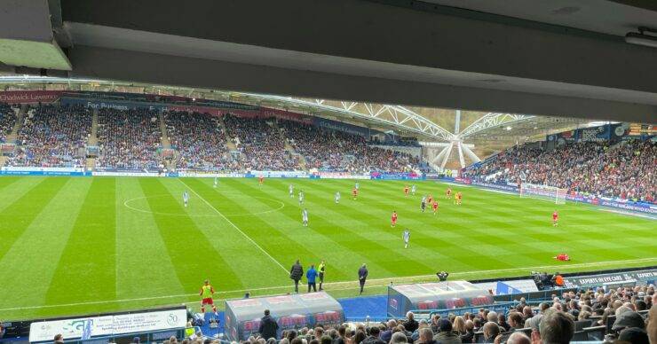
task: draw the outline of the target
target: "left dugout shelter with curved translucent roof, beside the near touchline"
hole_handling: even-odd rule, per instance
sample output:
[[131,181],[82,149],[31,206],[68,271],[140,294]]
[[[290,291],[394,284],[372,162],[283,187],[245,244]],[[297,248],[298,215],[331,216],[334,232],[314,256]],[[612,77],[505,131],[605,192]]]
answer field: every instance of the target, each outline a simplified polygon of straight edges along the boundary
[[226,301],[225,333],[229,340],[246,340],[260,328],[263,310],[269,309],[281,332],[316,324],[337,327],[344,322],[344,311],[328,293],[302,293]]

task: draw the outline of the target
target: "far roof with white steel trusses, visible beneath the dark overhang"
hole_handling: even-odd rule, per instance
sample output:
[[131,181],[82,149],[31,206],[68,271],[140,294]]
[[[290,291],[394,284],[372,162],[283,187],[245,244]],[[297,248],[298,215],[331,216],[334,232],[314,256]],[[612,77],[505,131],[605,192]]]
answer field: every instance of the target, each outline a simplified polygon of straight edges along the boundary
[[277,95],[207,90],[178,86],[112,82],[39,76],[0,76],[4,90],[88,90],[107,92],[147,93],[232,101],[266,106],[297,113],[329,118],[381,131],[392,130],[404,137],[417,137],[426,142],[454,140],[527,140],[546,133],[585,125],[582,119],[535,116],[511,113],[468,113],[460,115],[458,128],[455,110],[418,108],[374,103],[361,103],[317,98],[293,98]]

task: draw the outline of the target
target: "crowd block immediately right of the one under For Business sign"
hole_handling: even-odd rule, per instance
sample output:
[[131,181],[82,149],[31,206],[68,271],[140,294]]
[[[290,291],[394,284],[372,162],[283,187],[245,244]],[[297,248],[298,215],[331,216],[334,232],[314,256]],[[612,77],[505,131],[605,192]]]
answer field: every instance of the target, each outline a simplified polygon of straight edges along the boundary
[[177,169],[224,171],[232,166],[226,146],[226,134],[218,117],[208,113],[166,112],[172,148],[178,150]]

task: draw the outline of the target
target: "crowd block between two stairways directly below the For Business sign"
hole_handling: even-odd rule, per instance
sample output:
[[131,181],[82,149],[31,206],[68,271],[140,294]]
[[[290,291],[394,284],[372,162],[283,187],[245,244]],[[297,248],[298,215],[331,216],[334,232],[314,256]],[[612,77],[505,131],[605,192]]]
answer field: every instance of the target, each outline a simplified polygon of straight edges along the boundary
[[156,171],[162,168],[158,155],[161,130],[157,113],[151,110],[115,110],[98,113],[100,155],[96,168]]

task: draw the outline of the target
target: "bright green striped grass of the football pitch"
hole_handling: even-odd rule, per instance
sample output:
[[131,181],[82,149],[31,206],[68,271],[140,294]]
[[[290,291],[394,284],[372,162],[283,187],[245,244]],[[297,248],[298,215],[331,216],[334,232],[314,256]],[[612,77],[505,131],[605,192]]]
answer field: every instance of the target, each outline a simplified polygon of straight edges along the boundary
[[[306,194],[310,226],[297,198]],[[23,319],[190,303],[209,278],[218,299],[289,293],[288,270],[327,262],[326,289],[357,294],[368,263],[368,293],[390,281],[526,275],[530,270],[602,270],[654,265],[653,220],[568,203],[452,186],[463,206],[444,199],[447,184],[404,182],[131,177],[0,178],[0,318]],[[182,192],[191,196],[189,207]],[[342,192],[339,205],[333,202]],[[420,194],[440,201],[419,212]],[[561,222],[551,226],[558,208]],[[391,228],[390,215],[400,220]],[[404,249],[401,232],[409,228]],[[651,230],[652,229],[652,230]],[[571,262],[557,262],[560,252]]]

